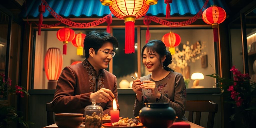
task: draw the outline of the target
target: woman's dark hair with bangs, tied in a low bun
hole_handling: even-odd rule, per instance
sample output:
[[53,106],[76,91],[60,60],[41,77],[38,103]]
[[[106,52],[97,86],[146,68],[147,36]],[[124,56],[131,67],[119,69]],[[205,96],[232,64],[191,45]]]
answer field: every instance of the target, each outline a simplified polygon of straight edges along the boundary
[[[164,70],[166,71],[173,71],[173,69],[169,68],[168,65],[172,63],[172,55],[169,51],[166,50],[166,46],[163,41],[161,40],[151,40],[146,45],[143,46],[141,50],[141,57],[143,58],[143,52],[147,48],[148,54],[159,54],[159,61],[161,63],[161,58],[166,55],[166,59],[163,62]],[[155,55],[156,56],[156,55]]]

